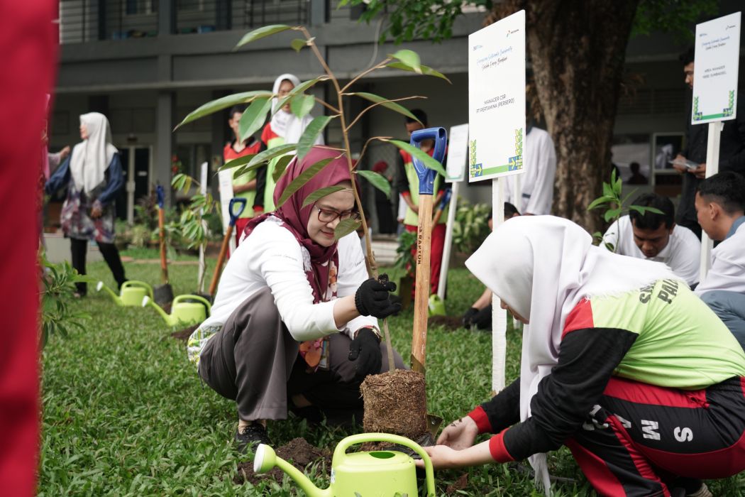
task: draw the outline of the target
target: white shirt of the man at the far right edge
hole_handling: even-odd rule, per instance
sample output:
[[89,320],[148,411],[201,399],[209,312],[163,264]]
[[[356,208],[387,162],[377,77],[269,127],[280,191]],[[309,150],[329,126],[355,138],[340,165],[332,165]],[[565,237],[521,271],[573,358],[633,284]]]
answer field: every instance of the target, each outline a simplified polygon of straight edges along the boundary
[[711,269],[696,287],[696,293],[712,290],[745,294],[745,223],[711,250]]

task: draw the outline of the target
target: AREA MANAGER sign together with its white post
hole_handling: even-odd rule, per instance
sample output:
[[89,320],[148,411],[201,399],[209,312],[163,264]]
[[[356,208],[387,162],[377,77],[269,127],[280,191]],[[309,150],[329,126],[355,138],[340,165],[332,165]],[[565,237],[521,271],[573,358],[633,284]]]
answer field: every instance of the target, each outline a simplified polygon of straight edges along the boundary
[[[719,144],[723,121],[737,117],[740,22],[741,13],[736,12],[696,25],[691,124],[708,123],[707,178],[719,172]],[[713,242],[706,232],[702,232],[701,280],[708,273],[712,247]]]

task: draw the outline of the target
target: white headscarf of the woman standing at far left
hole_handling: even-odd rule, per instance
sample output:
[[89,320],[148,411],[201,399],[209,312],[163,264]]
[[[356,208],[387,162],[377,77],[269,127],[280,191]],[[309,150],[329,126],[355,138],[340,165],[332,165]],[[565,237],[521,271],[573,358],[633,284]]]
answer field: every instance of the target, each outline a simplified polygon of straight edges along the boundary
[[90,193],[104,181],[104,173],[117,152],[111,145],[109,120],[100,113],[80,115],[80,124],[88,138],[75,145],[70,157],[70,172],[77,191]]

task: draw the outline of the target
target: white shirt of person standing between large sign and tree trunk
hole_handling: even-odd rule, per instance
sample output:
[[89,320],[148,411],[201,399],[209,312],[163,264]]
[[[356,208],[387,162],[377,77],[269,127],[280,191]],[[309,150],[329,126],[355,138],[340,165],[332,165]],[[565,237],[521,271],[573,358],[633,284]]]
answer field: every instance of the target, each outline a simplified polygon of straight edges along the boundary
[[[554,177],[557,174],[557,154],[551,136],[539,127],[525,136],[523,160],[525,172],[507,177],[507,202],[516,206],[520,214],[551,214],[554,201]],[[519,177],[519,180],[517,179]],[[520,195],[517,198],[517,182]]]

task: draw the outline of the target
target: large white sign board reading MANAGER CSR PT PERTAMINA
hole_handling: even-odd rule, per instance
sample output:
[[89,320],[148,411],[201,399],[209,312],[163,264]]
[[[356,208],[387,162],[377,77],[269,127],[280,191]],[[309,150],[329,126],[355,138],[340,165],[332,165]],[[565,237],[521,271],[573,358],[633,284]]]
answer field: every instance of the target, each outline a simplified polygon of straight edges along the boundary
[[525,130],[525,12],[469,35],[469,181],[519,174]]

